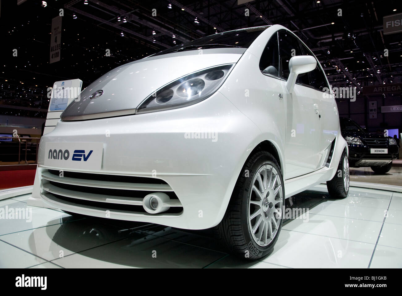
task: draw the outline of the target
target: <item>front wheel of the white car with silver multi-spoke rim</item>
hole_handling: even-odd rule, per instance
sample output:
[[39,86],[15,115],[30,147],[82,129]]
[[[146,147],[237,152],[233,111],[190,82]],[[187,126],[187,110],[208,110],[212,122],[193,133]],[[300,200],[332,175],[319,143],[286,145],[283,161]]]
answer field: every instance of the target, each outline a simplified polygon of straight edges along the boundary
[[248,158],[217,226],[230,253],[256,260],[272,252],[282,227],[283,184],[281,169],[271,153],[258,151]]

